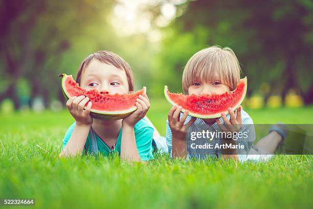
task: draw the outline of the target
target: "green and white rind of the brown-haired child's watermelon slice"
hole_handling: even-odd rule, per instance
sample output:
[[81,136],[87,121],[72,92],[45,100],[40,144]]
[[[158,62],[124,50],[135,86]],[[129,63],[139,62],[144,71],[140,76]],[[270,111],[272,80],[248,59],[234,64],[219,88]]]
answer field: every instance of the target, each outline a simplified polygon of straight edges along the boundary
[[[59,77],[62,77],[61,80],[61,85],[62,85],[62,92],[64,97],[66,98],[66,100],[68,100],[70,98],[70,95],[65,91],[65,79],[72,75],[66,75],[66,74],[60,74]],[[144,93],[146,93],[146,87],[144,88]],[[128,115],[130,115],[131,113],[135,112],[137,110],[137,106],[136,107],[132,107],[129,108],[127,110],[123,110],[123,111],[99,111],[99,110],[91,110],[90,111],[90,115],[93,118],[96,119],[102,119],[102,120],[119,120],[119,119],[123,119],[125,117],[127,117]]]

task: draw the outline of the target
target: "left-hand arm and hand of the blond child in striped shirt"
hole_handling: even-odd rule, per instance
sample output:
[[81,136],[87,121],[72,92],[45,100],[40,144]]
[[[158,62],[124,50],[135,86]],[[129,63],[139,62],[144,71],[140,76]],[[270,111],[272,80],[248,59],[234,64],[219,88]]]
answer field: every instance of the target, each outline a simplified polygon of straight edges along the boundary
[[192,118],[187,124],[184,125],[188,116],[186,110],[182,118],[180,113],[182,107],[173,106],[168,112],[168,124],[172,133],[172,157],[173,158],[186,158],[187,157],[187,145],[186,145],[186,133],[191,124],[196,120]]

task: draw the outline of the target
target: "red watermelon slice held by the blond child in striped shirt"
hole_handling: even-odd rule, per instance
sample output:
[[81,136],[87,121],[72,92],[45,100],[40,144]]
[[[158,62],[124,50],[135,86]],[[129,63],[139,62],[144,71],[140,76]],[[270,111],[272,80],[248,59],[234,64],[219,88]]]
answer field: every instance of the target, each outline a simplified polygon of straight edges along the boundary
[[172,106],[182,106],[182,112],[188,110],[190,116],[197,118],[218,118],[221,113],[229,114],[228,108],[236,110],[247,93],[247,77],[240,79],[234,91],[223,94],[196,96],[175,94],[164,86],[164,95]]

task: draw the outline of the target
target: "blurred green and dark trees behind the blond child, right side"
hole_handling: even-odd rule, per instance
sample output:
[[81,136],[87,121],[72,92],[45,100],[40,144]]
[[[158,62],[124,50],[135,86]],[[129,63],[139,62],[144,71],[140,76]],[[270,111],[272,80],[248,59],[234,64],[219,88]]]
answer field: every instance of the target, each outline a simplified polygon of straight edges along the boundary
[[191,1],[185,14],[164,30],[155,71],[169,72],[156,76],[181,91],[182,68],[192,54],[207,46],[229,46],[251,81],[249,93],[268,82],[269,93],[285,96],[298,89],[311,103],[312,26],[311,1]]

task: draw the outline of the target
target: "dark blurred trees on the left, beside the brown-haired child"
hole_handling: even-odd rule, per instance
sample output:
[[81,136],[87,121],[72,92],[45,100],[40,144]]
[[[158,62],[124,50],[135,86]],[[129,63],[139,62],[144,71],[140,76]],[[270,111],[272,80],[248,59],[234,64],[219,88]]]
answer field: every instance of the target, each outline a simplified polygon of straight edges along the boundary
[[[46,105],[57,94],[56,72],[62,53],[71,47],[88,24],[110,10],[114,2],[79,1],[0,1],[0,53],[3,74],[0,101],[9,97],[19,108],[16,82],[30,80],[32,97],[42,95]],[[7,82],[5,82],[7,81]]]

